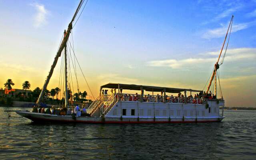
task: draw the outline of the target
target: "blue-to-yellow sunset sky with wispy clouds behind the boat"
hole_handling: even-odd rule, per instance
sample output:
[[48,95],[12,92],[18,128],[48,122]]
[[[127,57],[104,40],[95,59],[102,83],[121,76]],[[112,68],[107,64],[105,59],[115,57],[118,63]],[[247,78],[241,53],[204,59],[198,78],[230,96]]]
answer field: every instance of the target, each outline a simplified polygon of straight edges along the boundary
[[[42,88],[78,3],[0,1],[1,87],[11,78],[13,88],[25,80]],[[256,0],[89,0],[72,31],[92,93],[76,68],[80,90],[96,97],[109,82],[203,90],[232,15],[219,69],[225,106],[256,107]],[[60,68],[61,58],[48,90]]]

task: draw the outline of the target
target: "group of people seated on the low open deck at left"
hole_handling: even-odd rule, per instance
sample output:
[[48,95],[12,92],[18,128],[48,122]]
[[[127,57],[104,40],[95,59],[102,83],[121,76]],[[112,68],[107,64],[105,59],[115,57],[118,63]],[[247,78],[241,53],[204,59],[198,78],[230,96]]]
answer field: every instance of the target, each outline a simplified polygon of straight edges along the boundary
[[86,112],[86,108],[82,107],[80,108],[78,105],[76,105],[75,108],[53,108],[53,107],[49,107],[49,108],[44,108],[44,107],[37,107],[34,106],[32,109],[32,112],[35,113],[44,113],[44,114],[54,114],[54,115],[59,115],[59,116],[90,116],[90,114],[88,114]]

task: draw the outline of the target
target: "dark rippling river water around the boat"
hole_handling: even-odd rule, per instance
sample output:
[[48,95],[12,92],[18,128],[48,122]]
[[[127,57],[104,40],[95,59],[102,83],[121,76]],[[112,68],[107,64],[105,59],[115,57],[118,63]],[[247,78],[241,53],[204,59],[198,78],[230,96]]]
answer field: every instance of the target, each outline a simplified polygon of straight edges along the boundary
[[256,111],[198,124],[34,124],[0,107],[0,160],[256,160]]

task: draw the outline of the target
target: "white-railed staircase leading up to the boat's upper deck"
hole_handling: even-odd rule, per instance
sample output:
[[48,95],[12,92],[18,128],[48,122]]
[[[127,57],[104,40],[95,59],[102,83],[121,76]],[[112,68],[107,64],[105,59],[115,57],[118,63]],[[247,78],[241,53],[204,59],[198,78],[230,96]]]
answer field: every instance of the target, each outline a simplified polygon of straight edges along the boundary
[[88,113],[93,117],[105,116],[116,102],[117,94],[100,94],[88,107]]

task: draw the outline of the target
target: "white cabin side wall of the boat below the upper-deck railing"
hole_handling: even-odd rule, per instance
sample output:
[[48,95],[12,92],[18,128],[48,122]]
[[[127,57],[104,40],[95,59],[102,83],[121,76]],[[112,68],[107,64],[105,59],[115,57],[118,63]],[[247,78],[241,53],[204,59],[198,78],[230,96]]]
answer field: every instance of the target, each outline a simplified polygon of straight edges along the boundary
[[[219,104],[209,102],[209,108],[205,104],[180,104],[180,103],[154,103],[119,101],[106,114],[106,117],[123,118],[201,118],[219,117]],[[126,115],[122,115],[122,109],[126,109]],[[132,115],[134,110],[134,115]],[[210,112],[209,112],[210,111]]]

